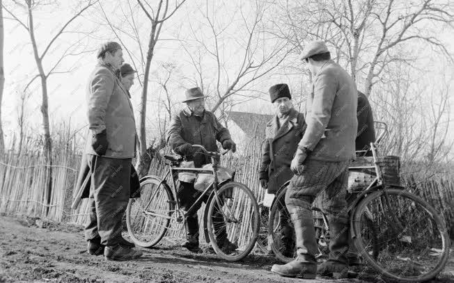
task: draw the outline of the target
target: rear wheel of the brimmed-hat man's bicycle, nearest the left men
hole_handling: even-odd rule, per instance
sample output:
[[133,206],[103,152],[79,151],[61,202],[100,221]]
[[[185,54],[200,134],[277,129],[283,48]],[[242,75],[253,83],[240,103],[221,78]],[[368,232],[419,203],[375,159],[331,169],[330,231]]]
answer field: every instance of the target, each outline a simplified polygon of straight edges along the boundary
[[173,195],[158,177],[141,182],[140,195],[127,205],[127,231],[136,245],[150,248],[161,241],[169,228]]

